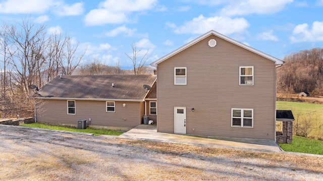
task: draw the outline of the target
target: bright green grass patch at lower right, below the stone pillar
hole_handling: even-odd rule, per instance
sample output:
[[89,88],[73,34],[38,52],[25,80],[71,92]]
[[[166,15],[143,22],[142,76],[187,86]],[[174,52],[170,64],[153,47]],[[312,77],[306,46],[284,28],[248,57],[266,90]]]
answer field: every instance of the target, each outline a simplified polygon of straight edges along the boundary
[[323,155],[323,141],[293,136],[291,144],[279,143],[284,151]]

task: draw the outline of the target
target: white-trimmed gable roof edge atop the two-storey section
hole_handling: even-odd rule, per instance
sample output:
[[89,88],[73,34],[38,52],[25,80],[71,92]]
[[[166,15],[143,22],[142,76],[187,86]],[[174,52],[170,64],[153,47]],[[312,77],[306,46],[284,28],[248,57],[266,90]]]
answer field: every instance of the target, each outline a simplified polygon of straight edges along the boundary
[[267,58],[267,59],[270,59],[271,61],[275,62],[275,64],[276,64],[276,65],[282,65],[282,64],[284,64],[284,63],[285,63],[284,61],[282,61],[282,60],[280,60],[280,59],[278,59],[278,58],[275,58],[274,56],[268,55],[268,54],[266,54],[266,53],[264,53],[264,52],[262,52],[262,51],[259,51],[259,50],[255,49],[255,48],[252,48],[252,47],[250,47],[250,46],[248,46],[248,45],[246,45],[246,44],[243,44],[243,43],[241,43],[241,42],[239,42],[239,41],[236,41],[236,40],[234,40],[234,39],[232,39],[232,38],[229,38],[229,37],[227,37],[227,36],[225,36],[225,35],[223,35],[223,34],[221,34],[221,33],[218,33],[218,32],[216,32],[216,31],[214,31],[214,30],[211,30],[211,31],[209,31],[209,32],[207,32],[207,33],[205,33],[205,34],[203,34],[203,35],[199,36],[198,38],[196,38],[196,39],[192,40],[191,42],[189,42],[189,43],[187,43],[187,44],[183,45],[182,47],[180,47],[180,48],[178,48],[178,49],[176,49],[176,50],[172,51],[171,53],[169,53],[169,54],[167,54],[167,55],[165,55],[165,56],[163,56],[163,57],[161,57],[161,58],[157,59],[155,62],[151,63],[151,64],[150,64],[150,66],[157,67],[157,64],[159,64],[159,63],[161,63],[161,62],[165,61],[167,58],[169,58],[169,57],[171,57],[171,56],[173,56],[173,55],[175,55],[175,54],[177,54],[177,53],[181,52],[182,50],[184,50],[184,49],[186,49],[186,48],[188,48],[188,47],[190,47],[190,46],[194,45],[195,43],[197,43],[197,42],[201,41],[202,39],[204,39],[204,38],[206,38],[206,37],[208,37],[208,36],[210,36],[210,35],[218,36],[218,37],[220,37],[220,38],[222,38],[222,39],[224,39],[224,40],[227,40],[227,41],[229,41],[229,42],[231,42],[231,43],[233,43],[233,44],[235,44],[235,45],[238,45],[238,46],[240,46],[240,47],[242,47],[242,48],[245,48],[245,49],[247,49],[247,50],[249,50],[249,51],[251,51],[251,52],[254,52],[254,53],[256,53],[256,54],[258,54],[258,55],[260,55],[260,56],[263,56],[263,57],[265,57],[265,58]]

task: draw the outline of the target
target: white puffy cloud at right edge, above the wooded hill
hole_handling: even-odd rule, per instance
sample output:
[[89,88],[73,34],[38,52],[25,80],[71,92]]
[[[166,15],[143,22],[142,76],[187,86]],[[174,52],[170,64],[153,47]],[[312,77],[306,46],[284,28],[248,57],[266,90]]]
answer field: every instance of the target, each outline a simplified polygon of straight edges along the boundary
[[297,25],[290,39],[292,42],[323,41],[323,22],[314,21],[312,27],[307,23]]

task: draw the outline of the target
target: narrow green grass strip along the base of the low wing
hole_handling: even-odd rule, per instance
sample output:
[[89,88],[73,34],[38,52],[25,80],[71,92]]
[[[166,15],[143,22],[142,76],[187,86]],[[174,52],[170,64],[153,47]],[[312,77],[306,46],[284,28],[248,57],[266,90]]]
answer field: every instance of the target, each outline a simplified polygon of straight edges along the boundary
[[86,129],[76,129],[67,126],[52,126],[52,125],[45,125],[40,123],[31,123],[31,124],[23,124],[20,125],[22,127],[32,127],[32,128],[42,128],[42,129],[49,129],[49,130],[62,130],[62,131],[69,131],[69,132],[79,132],[79,133],[93,133],[95,136],[97,135],[113,135],[119,136],[123,134],[120,131],[114,130],[105,130],[105,129],[93,129],[93,128],[86,128]]

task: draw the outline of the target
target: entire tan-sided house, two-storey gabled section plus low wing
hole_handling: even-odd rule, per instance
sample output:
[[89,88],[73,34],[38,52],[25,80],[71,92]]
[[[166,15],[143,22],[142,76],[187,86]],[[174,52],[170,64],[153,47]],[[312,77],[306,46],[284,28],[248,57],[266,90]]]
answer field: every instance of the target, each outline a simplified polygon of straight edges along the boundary
[[[276,139],[278,58],[209,31],[150,65],[157,76],[62,76],[39,91],[40,123]],[[145,89],[143,89],[143,85]]]

